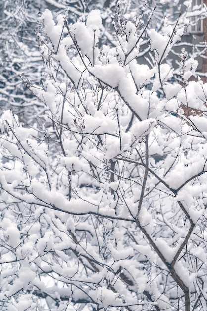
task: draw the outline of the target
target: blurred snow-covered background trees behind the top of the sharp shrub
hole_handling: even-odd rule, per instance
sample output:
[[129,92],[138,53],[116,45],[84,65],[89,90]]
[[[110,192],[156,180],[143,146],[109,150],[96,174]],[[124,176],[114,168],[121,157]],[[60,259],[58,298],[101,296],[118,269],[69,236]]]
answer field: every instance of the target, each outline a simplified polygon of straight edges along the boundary
[[[40,102],[31,94],[27,83],[37,83],[44,78],[44,69],[35,31],[38,27],[38,13],[49,8],[53,13],[68,10],[68,22],[85,20],[88,12],[100,9],[103,20],[102,42],[115,45],[115,32],[111,24],[111,15],[118,10],[118,0],[2,0],[0,3],[0,107],[12,107],[20,113],[21,119],[29,122],[30,117],[40,113]],[[176,67],[181,46],[185,47],[189,56],[199,60],[198,70],[202,72],[206,45],[203,43],[203,18],[206,6],[202,0],[123,0],[121,1],[123,16],[136,19],[143,14],[147,21],[149,14],[156,6],[150,21],[155,30],[161,29],[163,22],[172,23],[179,17],[179,23],[189,23],[186,35],[175,45],[168,62]],[[145,10],[142,12],[143,5]],[[140,61],[153,67],[155,60],[149,46],[143,40],[139,56]],[[176,61],[175,61],[176,59]],[[177,66],[178,67],[178,66]],[[177,71],[179,74],[179,69]],[[204,74],[205,76],[205,74]],[[22,83],[22,79],[25,83]],[[27,116],[27,117],[26,117]]]

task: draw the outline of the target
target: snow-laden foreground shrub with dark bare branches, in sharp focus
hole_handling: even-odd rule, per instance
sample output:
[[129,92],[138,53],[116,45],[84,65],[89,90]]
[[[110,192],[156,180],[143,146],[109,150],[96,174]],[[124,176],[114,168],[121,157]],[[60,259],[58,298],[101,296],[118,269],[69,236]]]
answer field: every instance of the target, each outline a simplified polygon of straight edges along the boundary
[[169,61],[187,15],[45,2],[36,114],[0,118],[0,309],[205,310],[207,84]]

